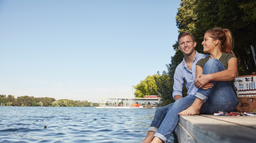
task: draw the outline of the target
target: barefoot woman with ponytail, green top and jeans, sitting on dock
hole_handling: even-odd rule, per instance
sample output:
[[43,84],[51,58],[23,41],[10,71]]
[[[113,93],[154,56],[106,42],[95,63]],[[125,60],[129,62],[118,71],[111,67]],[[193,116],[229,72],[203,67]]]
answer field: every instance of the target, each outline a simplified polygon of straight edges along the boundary
[[210,56],[197,62],[195,85],[199,88],[198,92],[195,96],[186,96],[174,102],[152,143],[167,142],[179,122],[179,112],[179,115],[198,115],[235,109],[237,98],[230,81],[237,75],[237,58],[232,51],[230,31],[210,29],[205,32],[202,45],[203,51]]

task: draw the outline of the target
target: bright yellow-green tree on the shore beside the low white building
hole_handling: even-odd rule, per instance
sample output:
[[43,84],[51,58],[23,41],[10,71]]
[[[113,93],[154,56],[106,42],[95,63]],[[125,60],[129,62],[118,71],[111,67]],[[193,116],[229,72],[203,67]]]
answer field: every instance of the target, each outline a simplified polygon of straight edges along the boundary
[[139,84],[134,86],[136,91],[134,92],[137,98],[143,98],[145,95],[157,95],[157,86],[155,78],[158,75],[153,76],[148,75],[143,81],[140,81]]

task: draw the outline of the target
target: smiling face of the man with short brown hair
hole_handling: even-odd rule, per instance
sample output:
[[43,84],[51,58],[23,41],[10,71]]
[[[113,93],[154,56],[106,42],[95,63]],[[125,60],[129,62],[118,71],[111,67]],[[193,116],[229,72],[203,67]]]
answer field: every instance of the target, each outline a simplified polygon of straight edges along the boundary
[[184,37],[181,37],[179,40],[179,49],[184,55],[191,55],[195,51],[197,43],[193,42],[193,39],[186,35]]

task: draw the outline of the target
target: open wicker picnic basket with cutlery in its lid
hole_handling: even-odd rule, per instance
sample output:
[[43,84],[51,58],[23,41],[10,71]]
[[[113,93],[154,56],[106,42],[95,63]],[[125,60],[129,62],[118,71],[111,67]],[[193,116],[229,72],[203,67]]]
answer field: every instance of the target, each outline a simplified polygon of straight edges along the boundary
[[234,79],[234,89],[238,95],[243,112],[256,110],[256,75],[237,76]]

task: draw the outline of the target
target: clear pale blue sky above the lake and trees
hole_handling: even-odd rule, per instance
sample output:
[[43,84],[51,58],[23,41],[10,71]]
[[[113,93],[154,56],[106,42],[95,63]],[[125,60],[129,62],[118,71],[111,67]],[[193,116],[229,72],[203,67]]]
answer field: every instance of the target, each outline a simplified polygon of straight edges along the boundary
[[166,71],[179,0],[0,0],[0,94],[101,102]]

